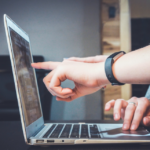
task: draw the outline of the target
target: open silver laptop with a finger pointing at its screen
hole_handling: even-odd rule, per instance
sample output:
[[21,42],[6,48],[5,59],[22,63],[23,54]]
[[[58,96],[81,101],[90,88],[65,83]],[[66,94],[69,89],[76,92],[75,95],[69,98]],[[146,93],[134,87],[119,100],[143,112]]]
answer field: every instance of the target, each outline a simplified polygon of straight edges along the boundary
[[[10,17],[4,26],[19,105],[22,131],[29,145],[74,145],[100,143],[149,143],[150,132],[123,131],[113,123],[44,123],[36,81],[30,39]],[[14,137],[15,138],[15,137]]]

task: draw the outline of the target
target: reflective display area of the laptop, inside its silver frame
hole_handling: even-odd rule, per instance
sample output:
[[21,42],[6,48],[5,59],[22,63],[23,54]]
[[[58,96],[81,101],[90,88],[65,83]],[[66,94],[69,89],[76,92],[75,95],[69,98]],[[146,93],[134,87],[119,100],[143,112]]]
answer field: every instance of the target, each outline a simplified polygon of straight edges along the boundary
[[39,119],[41,114],[38,90],[33,68],[29,42],[9,27],[16,76],[26,126]]

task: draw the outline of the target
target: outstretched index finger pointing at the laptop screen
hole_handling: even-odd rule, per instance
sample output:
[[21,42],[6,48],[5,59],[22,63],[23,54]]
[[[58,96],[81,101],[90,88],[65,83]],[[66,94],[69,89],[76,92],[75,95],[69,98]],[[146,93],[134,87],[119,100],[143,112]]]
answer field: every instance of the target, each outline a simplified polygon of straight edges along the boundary
[[60,65],[61,62],[38,62],[38,63],[32,63],[31,66],[36,69],[45,69],[45,70],[53,70],[57,68],[58,65]]

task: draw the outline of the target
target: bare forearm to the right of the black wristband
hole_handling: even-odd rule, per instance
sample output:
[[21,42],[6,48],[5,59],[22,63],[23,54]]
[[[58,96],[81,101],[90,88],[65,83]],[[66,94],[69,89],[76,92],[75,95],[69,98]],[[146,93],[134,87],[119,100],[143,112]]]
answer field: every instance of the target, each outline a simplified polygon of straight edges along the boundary
[[120,57],[112,70],[121,83],[150,84],[150,46]]

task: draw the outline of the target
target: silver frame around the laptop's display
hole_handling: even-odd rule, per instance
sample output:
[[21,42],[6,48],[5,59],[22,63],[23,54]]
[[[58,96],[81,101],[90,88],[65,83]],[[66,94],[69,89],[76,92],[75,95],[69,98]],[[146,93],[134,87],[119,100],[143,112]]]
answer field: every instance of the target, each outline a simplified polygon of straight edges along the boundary
[[20,92],[19,92],[17,71],[16,71],[16,68],[15,68],[15,59],[14,59],[14,54],[13,54],[13,49],[12,49],[12,42],[11,42],[9,27],[11,27],[21,37],[23,37],[26,41],[29,42],[31,61],[33,62],[32,53],[31,53],[30,39],[29,39],[28,34],[24,30],[22,30],[6,14],[4,15],[4,26],[5,26],[5,32],[6,32],[6,38],[7,38],[7,44],[8,44],[10,59],[11,59],[11,66],[12,66],[13,77],[14,77],[14,82],[15,82],[16,95],[17,95],[17,100],[18,100],[18,105],[19,105],[21,124],[22,124],[24,138],[25,138],[25,141],[27,142],[27,139],[30,138],[41,126],[44,125],[44,119],[43,119],[42,107],[41,107],[41,102],[40,102],[39,90],[38,90],[38,86],[37,86],[36,74],[35,74],[35,70],[33,69],[34,70],[34,76],[35,76],[35,84],[36,84],[37,94],[38,94],[37,96],[38,96],[38,99],[39,99],[41,117],[38,118],[33,123],[31,123],[30,125],[26,126],[26,122],[25,122],[25,118],[24,118],[24,112],[23,112],[23,106],[22,106],[22,103],[21,103],[21,97],[20,97]]

